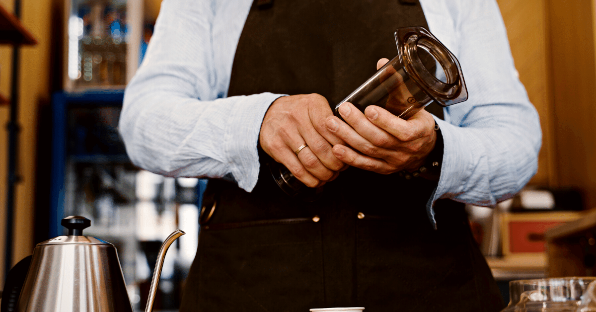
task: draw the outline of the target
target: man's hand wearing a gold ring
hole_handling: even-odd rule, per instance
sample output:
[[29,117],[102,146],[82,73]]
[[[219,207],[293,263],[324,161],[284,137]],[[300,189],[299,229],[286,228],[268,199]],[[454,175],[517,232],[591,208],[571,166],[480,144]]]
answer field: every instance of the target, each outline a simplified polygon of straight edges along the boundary
[[[260,146],[306,186],[322,186],[347,168],[331,152],[333,145],[345,143],[327,129],[325,121],[329,116],[333,112],[322,95],[280,97],[263,118]],[[296,155],[294,152],[305,143],[308,147]]]

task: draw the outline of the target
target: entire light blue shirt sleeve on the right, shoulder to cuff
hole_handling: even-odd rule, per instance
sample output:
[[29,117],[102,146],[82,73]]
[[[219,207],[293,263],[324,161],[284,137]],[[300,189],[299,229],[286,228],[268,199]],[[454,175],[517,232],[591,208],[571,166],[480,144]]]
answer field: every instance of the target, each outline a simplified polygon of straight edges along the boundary
[[[512,197],[536,173],[542,142],[538,113],[519,81],[496,2],[445,3],[442,9],[452,18],[429,20],[429,27],[456,51],[469,97],[447,107],[445,121],[437,120],[444,150],[431,217],[439,198],[493,206]],[[431,15],[439,10],[430,2],[426,9]],[[449,29],[457,36],[443,33]]]

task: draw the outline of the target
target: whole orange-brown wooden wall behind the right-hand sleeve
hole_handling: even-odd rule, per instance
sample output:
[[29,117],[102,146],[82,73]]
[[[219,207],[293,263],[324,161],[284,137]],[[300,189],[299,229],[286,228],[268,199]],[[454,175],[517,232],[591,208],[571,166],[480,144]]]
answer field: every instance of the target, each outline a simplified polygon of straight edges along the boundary
[[542,123],[530,186],[574,187],[596,207],[593,0],[497,0],[511,52]]

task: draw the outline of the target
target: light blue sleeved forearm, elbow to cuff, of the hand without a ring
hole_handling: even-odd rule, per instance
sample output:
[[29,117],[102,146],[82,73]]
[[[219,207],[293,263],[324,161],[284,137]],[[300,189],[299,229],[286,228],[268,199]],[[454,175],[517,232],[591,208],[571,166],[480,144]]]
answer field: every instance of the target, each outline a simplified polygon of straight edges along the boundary
[[478,107],[459,126],[438,122],[445,147],[433,200],[493,206],[536,173],[541,129],[530,103]]

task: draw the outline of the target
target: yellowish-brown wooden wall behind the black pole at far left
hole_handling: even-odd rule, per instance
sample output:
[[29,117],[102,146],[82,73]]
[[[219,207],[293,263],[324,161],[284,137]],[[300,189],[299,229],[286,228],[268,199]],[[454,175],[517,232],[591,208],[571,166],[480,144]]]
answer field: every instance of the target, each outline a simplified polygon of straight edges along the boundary
[[[15,210],[13,231],[13,259],[8,260],[14,265],[22,258],[33,252],[33,211],[35,206],[36,146],[38,105],[40,101],[49,101],[49,70],[51,68],[51,8],[52,5],[63,0],[27,0],[21,2],[21,23],[38,40],[34,47],[21,48],[20,82],[19,82],[19,114],[21,126],[18,141],[17,174],[22,180],[15,188]],[[14,1],[0,0],[0,3],[10,12]],[[11,48],[0,48],[0,91],[8,95],[10,91]],[[45,116],[51,118],[51,116]],[[8,132],[4,125],[8,122],[8,106],[0,107],[0,257],[5,252],[5,211],[7,186],[7,146]],[[39,186],[48,187],[48,186]],[[0,283],[4,283],[4,259],[1,259]]]

